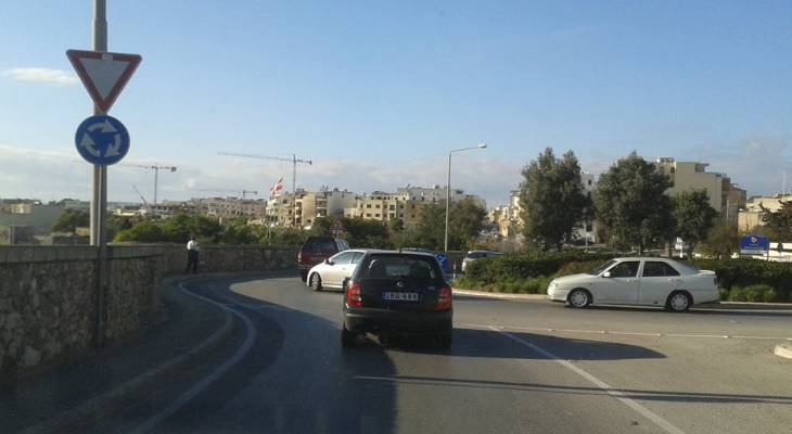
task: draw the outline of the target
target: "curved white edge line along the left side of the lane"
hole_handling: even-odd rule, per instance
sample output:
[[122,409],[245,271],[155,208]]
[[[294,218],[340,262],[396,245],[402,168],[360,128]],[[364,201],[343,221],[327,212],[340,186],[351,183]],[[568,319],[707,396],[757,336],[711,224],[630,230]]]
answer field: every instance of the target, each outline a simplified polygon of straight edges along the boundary
[[234,365],[237,365],[240,360],[242,360],[245,355],[247,355],[247,352],[251,350],[251,347],[253,346],[253,343],[256,341],[256,328],[253,327],[253,322],[242,312],[239,310],[229,307],[222,303],[217,303],[210,298],[204,297],[203,295],[197,295],[188,289],[184,288],[183,282],[179,283],[179,289],[184,292],[186,294],[189,294],[193,297],[201,298],[205,302],[212,303],[213,305],[219,306],[222,309],[226,309],[227,311],[233,314],[239,319],[241,319],[245,323],[245,341],[242,343],[242,346],[237,349],[237,352],[233,354],[231,358],[226,360],[220,367],[218,367],[214,372],[212,372],[209,375],[204,378],[203,380],[199,381],[190,387],[189,391],[187,391],[184,394],[179,396],[178,399],[174,401],[170,406],[165,408],[163,411],[152,416],[146,420],[145,422],[138,425],[135,430],[132,430],[130,433],[132,434],[143,434],[152,431],[157,424],[159,424],[165,419],[171,417],[175,412],[179,411],[181,407],[187,405],[192,398],[197,396],[200,393],[205,391],[208,386],[210,386],[215,381],[217,381],[222,374],[228,372]]

